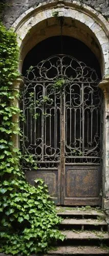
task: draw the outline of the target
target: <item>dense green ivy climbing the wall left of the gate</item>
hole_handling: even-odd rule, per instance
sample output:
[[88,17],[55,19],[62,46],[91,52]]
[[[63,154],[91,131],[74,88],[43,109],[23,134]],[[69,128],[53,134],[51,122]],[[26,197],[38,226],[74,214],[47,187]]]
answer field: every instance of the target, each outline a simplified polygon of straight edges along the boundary
[[13,116],[20,114],[13,104],[19,95],[11,90],[19,77],[18,58],[16,34],[0,23],[0,252],[30,255],[47,251],[53,241],[64,237],[56,228],[60,218],[47,186],[40,179],[36,186],[26,181],[20,150],[12,142],[14,135],[20,135],[13,122]]

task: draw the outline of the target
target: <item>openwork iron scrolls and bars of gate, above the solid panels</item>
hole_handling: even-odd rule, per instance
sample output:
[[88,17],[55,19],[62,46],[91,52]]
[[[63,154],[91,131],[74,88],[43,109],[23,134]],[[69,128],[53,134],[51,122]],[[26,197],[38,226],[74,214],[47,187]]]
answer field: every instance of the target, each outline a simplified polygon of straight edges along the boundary
[[100,162],[101,96],[96,71],[72,56],[56,55],[27,71],[23,93],[23,150],[39,168],[58,167],[61,113],[66,163]]

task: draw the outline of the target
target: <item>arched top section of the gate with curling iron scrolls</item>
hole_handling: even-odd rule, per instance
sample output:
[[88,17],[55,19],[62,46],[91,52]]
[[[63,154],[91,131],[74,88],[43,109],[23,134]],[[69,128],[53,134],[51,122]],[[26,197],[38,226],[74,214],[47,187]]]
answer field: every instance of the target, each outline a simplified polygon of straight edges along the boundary
[[35,67],[30,67],[26,82],[54,81],[65,79],[73,82],[96,82],[99,78],[96,71],[70,55],[54,55],[42,60]]

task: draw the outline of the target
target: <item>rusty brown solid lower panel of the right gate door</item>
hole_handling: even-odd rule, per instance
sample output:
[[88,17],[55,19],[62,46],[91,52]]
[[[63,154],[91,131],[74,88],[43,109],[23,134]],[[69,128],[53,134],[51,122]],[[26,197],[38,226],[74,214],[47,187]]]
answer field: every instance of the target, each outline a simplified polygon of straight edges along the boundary
[[100,166],[66,165],[64,204],[100,204]]

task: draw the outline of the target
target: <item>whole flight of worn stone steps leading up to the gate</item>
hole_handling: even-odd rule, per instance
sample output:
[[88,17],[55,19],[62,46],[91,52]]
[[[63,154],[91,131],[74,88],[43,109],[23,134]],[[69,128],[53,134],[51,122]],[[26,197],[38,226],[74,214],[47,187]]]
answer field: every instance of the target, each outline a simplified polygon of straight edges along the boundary
[[47,255],[109,255],[105,215],[96,208],[57,207],[62,217],[61,232],[66,236]]

